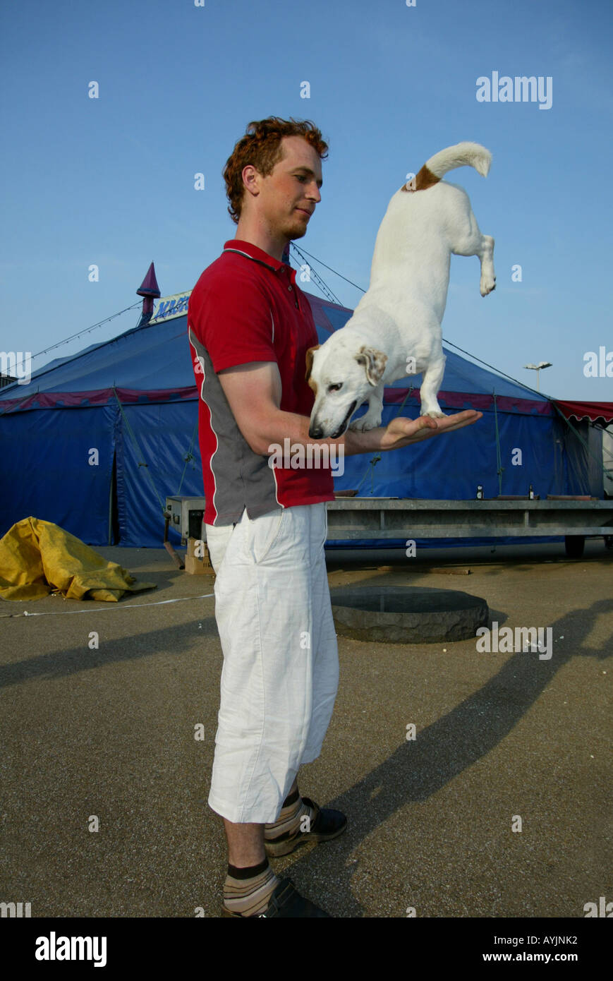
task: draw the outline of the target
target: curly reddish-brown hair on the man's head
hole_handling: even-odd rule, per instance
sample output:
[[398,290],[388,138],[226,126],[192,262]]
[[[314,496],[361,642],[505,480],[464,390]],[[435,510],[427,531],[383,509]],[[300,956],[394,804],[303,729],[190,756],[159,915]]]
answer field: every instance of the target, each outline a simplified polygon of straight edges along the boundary
[[224,169],[226,194],[230,201],[228,211],[235,225],[238,224],[242,207],[243,168],[251,164],[263,177],[272,174],[281,160],[283,136],[304,136],[317,150],[320,159],[325,160],[328,156],[328,143],[324,142],[321,131],[310,120],[299,123],[291,117],[282,120],[279,116],[269,116],[268,119],[250,123],[245,135],[234,145]]

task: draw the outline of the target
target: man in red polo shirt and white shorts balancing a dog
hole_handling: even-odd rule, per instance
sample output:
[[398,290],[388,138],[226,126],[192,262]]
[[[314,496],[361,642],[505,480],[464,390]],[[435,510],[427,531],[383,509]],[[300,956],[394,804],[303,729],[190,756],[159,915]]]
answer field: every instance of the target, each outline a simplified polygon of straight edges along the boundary
[[[317,332],[281,257],[321,201],[327,150],[310,122],[249,125],[224,172],[236,237],[194,286],[187,312],[224,651],[209,805],[228,840],[228,916],[329,916],[289,879],[280,882],[268,856],[330,840],[346,826],[343,814],[302,798],[297,786],[299,766],[320,754],[338,684],[324,552],[332,472],[269,466],[284,439],[314,441],[305,357]],[[481,415],[396,418],[317,442],[338,454],[372,453]]]

